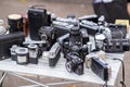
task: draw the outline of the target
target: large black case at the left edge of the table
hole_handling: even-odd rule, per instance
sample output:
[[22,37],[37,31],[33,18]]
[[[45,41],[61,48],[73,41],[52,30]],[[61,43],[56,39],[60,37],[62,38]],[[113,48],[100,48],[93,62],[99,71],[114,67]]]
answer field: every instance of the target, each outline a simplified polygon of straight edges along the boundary
[[10,48],[12,45],[22,46],[24,40],[25,36],[22,32],[0,35],[0,60],[10,58]]

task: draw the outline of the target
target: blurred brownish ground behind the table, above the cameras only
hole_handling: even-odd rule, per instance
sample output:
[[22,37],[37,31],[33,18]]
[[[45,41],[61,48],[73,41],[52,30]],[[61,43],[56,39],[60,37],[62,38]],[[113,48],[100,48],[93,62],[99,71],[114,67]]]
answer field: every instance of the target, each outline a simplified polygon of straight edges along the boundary
[[69,13],[79,17],[93,14],[91,3],[91,0],[0,0],[0,18],[6,21],[9,14],[25,13],[29,5],[44,5],[48,11],[61,17]]

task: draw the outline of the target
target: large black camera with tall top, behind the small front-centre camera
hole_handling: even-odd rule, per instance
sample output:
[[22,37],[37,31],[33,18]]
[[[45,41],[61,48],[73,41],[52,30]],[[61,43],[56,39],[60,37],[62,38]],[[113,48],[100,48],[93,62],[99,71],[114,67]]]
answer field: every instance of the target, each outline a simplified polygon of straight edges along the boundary
[[62,51],[64,53],[64,58],[66,58],[66,54],[69,52],[77,52],[79,53],[81,59],[84,59],[88,50],[87,49],[88,41],[89,37],[87,30],[81,32],[81,29],[73,27],[69,32],[69,37],[64,39],[62,44]]

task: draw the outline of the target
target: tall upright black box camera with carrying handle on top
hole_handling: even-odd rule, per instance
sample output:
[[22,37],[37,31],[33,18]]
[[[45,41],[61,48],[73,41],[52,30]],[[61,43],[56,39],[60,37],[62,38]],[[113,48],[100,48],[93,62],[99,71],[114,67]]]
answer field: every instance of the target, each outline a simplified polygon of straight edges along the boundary
[[50,25],[50,13],[42,5],[32,5],[28,9],[28,26],[32,40],[40,40],[38,32],[41,26]]

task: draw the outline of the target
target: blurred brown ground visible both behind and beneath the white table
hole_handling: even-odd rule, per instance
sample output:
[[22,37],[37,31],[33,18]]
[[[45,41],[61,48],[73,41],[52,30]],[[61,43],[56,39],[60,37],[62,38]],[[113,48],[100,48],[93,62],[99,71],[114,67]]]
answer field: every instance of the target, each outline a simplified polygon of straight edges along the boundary
[[[0,0],[0,18],[4,21],[4,26],[8,26],[8,15],[13,13],[26,13],[29,5],[44,5],[48,11],[55,13],[57,16],[65,17],[67,14],[75,14],[77,17],[83,15],[94,14],[92,0]],[[130,53],[126,52],[125,65],[126,65],[126,84],[130,86]],[[31,78],[40,83],[63,82],[67,79],[52,78],[46,76],[36,76],[24,74],[24,76]],[[121,70],[119,72],[118,79],[121,78]],[[12,75],[5,77],[3,87],[18,87],[22,85],[30,85],[27,80],[23,80]],[[91,83],[78,83],[60,85],[52,87],[101,87],[101,85]],[[116,82],[115,87],[121,87],[119,80]]]

